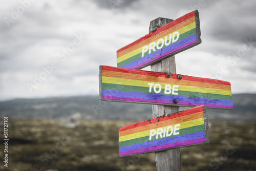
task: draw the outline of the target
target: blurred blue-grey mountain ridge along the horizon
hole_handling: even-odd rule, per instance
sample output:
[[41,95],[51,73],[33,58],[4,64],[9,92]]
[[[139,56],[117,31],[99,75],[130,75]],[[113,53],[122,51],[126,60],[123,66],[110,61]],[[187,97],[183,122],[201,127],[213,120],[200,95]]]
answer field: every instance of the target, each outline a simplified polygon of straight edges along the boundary
[[[207,109],[209,120],[256,121],[256,94],[234,94],[233,110]],[[180,108],[180,111],[188,108]],[[80,113],[81,119],[147,120],[152,118],[152,105],[106,102],[97,95],[13,99],[0,102],[0,116],[10,118],[60,119]]]

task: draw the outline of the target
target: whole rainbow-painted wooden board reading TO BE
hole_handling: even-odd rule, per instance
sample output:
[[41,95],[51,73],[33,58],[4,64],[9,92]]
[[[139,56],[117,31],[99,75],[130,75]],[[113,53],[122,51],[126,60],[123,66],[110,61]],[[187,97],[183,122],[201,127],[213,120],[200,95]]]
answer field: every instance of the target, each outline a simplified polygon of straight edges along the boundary
[[181,79],[178,77],[163,72],[100,66],[99,98],[103,101],[233,108],[229,82],[185,75]]

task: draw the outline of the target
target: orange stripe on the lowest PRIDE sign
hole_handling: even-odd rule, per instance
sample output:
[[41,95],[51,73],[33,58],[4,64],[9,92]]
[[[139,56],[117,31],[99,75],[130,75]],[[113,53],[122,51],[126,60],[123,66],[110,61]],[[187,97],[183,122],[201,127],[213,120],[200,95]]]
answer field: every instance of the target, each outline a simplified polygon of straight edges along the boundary
[[177,118],[173,118],[173,119],[169,119],[169,120],[165,120],[165,121],[160,121],[160,122],[157,122],[158,125],[156,125],[156,123],[152,123],[152,124],[148,124],[145,126],[135,127],[134,129],[121,131],[121,132],[119,132],[119,137],[134,134],[134,133],[139,133],[142,131],[153,130],[153,129],[157,129],[159,127],[172,125],[172,124],[176,124],[176,123],[181,123],[181,122],[186,122],[189,120],[199,119],[199,118],[203,118],[203,117],[204,117],[204,113],[203,113],[203,111],[201,111],[201,112],[189,114],[186,116],[181,116],[181,117],[177,117]]

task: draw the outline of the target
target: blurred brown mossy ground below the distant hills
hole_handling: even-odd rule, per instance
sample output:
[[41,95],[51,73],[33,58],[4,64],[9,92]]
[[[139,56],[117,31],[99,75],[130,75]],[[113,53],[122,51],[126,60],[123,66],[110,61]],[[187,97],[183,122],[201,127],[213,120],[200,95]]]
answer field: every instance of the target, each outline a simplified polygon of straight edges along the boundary
[[[118,129],[138,121],[9,119],[8,167],[0,170],[156,170],[154,153],[118,156]],[[3,120],[0,135],[4,137]],[[256,170],[256,123],[210,121],[210,142],[181,148],[182,170]]]

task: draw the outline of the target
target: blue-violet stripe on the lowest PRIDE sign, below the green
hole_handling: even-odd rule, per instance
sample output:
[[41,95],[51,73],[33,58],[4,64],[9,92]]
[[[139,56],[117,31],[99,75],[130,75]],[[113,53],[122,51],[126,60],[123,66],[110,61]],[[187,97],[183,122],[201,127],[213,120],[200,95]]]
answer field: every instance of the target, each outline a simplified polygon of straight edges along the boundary
[[164,145],[164,144],[175,143],[175,142],[180,142],[180,141],[194,140],[194,139],[204,138],[204,137],[205,137],[204,131],[200,131],[200,132],[196,132],[196,133],[179,135],[179,136],[175,136],[175,137],[167,137],[167,138],[157,139],[157,140],[153,140],[153,141],[148,140],[146,142],[121,146],[121,147],[119,147],[119,152],[131,151],[134,149]]

